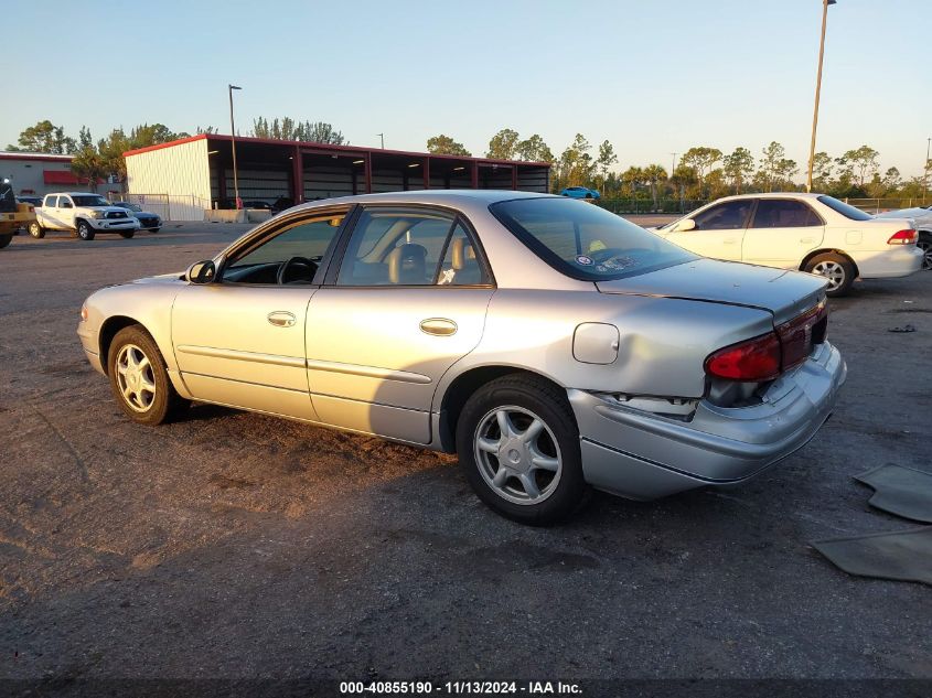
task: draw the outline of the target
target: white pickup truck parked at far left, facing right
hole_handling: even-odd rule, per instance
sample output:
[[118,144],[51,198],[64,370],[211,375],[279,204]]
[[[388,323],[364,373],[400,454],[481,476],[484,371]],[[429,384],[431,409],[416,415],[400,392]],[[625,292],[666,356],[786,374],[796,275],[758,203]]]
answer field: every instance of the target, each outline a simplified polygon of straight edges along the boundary
[[111,206],[99,194],[64,192],[45,195],[42,205],[35,207],[29,234],[42,238],[46,230],[69,230],[83,240],[93,240],[97,233],[119,233],[130,238],[140,227],[132,212]]

